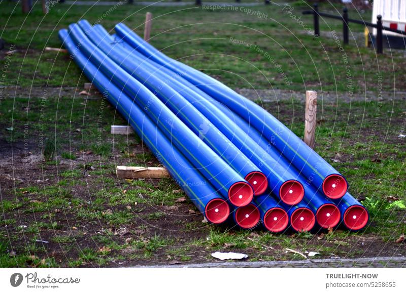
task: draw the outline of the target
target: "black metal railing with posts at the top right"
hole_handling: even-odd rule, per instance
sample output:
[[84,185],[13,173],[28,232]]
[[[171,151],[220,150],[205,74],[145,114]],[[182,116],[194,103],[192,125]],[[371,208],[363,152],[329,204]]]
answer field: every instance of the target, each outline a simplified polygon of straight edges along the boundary
[[303,11],[302,14],[312,14],[313,15],[314,36],[316,36],[316,37],[320,36],[320,26],[319,26],[319,17],[320,16],[333,18],[333,19],[343,21],[343,40],[344,40],[344,44],[349,43],[348,35],[349,35],[349,23],[350,22],[376,28],[377,29],[377,38],[376,38],[376,40],[377,40],[377,53],[378,54],[383,53],[383,35],[382,35],[383,30],[395,32],[395,33],[406,36],[405,31],[402,31],[400,29],[390,28],[390,27],[387,27],[387,26],[383,26],[383,24],[382,24],[382,16],[380,16],[380,15],[377,16],[377,23],[372,23],[372,22],[367,22],[367,21],[363,21],[363,20],[349,18],[348,17],[348,10],[347,10],[346,7],[343,9],[343,15],[332,15],[332,14],[328,14],[328,13],[324,13],[324,12],[319,12],[317,3],[315,3],[313,5],[312,10]]

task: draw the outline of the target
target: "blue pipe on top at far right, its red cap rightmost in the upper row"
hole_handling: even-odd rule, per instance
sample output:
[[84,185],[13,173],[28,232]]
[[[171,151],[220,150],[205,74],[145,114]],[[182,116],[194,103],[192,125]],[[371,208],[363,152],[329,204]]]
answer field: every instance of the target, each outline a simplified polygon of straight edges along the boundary
[[168,58],[145,42],[124,24],[116,25],[117,34],[130,46],[146,57],[180,74],[194,86],[219,102],[226,104],[235,113],[248,121],[268,141],[291,161],[311,183],[333,199],[342,197],[348,188],[344,176],[303,143],[293,132],[262,107],[235,93],[218,80],[195,70],[181,62]]

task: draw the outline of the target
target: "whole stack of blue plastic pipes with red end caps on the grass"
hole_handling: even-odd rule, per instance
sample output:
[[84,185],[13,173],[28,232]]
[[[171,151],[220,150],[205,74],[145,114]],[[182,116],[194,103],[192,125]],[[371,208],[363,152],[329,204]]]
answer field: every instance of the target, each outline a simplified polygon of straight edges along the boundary
[[81,20],[59,38],[209,222],[365,227],[368,212],[345,177],[272,114],[124,24],[115,31]]

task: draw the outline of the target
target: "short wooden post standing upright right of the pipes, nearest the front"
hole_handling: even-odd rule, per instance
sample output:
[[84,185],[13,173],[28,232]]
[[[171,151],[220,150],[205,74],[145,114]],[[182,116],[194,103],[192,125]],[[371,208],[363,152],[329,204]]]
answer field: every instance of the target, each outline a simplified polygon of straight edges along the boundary
[[306,113],[304,116],[303,141],[311,148],[314,147],[316,133],[317,92],[306,91]]

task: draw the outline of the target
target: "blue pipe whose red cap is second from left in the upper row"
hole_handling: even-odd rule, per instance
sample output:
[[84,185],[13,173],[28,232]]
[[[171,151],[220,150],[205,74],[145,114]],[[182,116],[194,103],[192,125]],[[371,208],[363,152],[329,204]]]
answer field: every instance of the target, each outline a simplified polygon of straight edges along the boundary
[[[86,36],[131,76],[143,83],[153,92],[168,108],[174,112],[199,138],[214,150],[238,174],[247,180],[254,188],[261,182],[263,193],[267,188],[266,176],[259,168],[229,139],[213,125],[210,120],[200,113],[193,104],[189,103],[180,93],[172,88],[170,77],[160,76],[145,60],[138,59],[134,62],[128,54],[115,50],[109,41],[100,36],[86,20],[79,21]],[[133,58],[137,58],[133,56]],[[254,189],[255,190],[255,189]],[[258,190],[257,190],[258,191]]]

